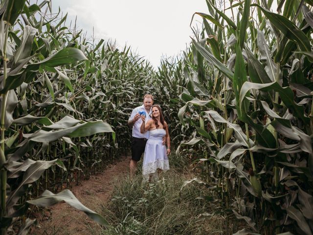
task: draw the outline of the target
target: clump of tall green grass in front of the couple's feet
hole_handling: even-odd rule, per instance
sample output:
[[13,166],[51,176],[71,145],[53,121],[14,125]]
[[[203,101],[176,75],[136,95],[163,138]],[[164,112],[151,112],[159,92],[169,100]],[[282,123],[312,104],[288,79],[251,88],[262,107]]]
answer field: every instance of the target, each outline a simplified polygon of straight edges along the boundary
[[201,235],[231,231],[226,228],[225,218],[211,214],[218,205],[201,199],[207,188],[194,184],[181,188],[185,180],[174,170],[150,183],[142,181],[142,176],[133,181],[127,177],[116,179],[111,200],[102,209],[112,228],[93,230],[92,234]]

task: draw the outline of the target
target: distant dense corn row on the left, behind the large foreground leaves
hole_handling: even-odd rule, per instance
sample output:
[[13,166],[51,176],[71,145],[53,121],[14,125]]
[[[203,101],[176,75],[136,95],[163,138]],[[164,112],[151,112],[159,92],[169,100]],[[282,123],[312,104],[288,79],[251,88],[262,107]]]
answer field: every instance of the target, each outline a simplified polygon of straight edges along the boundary
[[[36,7],[31,6],[30,9]],[[49,15],[45,14],[45,27],[38,41],[42,54],[71,46],[82,50],[88,60],[72,67],[40,73],[32,86],[23,86],[19,97],[22,102],[14,115],[16,118],[20,114],[26,115],[29,104],[31,114],[40,113],[52,121],[58,121],[66,115],[77,119],[106,119],[115,127],[119,138],[113,142],[111,135],[101,133],[71,141],[61,139],[44,148],[36,146],[29,153],[30,156],[38,160],[49,159],[49,156],[62,158],[68,174],[55,167],[46,170],[44,177],[35,182],[35,195],[50,187],[53,191],[58,191],[64,183],[79,183],[82,177],[101,170],[121,153],[127,153],[130,132],[125,123],[134,105],[149,90],[147,84],[151,83],[154,75],[150,64],[134,54],[130,47],[119,50],[114,44],[104,40],[86,40],[82,30],[77,31],[75,26],[68,28],[67,15],[61,18],[57,18],[59,14],[52,14],[52,18]],[[27,18],[27,22],[31,25],[38,24],[38,17],[32,15]],[[23,27],[22,22],[19,25]],[[69,90],[70,87],[74,93]],[[32,128],[30,123],[24,124],[26,131]]]

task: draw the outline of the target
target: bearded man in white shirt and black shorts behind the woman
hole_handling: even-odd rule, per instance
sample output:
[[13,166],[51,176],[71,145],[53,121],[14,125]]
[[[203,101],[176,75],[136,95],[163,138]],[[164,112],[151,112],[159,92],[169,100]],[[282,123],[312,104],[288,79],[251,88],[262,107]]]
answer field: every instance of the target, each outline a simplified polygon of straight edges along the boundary
[[137,163],[141,158],[141,155],[145,151],[146,142],[149,138],[149,133],[140,133],[140,126],[142,120],[140,118],[140,113],[146,114],[146,121],[151,119],[151,107],[153,105],[153,96],[151,94],[145,94],[143,97],[143,105],[134,108],[131,117],[128,119],[128,125],[133,127],[132,133],[132,160],[130,163],[130,173],[131,177],[134,176],[135,170],[137,168]]

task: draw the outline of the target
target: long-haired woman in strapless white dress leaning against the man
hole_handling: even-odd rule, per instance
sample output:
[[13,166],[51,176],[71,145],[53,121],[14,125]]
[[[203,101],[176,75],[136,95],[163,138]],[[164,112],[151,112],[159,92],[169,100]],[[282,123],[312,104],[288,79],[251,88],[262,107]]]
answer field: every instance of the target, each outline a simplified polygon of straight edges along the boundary
[[[170,149],[170,135],[168,133],[168,125],[164,121],[162,110],[160,106],[152,106],[152,119],[145,123],[146,117],[141,115],[142,124],[140,132],[145,133],[149,131],[149,139],[146,143],[145,154],[142,164],[142,174],[144,179],[149,179],[149,174],[154,174],[157,177],[157,170],[161,169],[167,171],[169,167],[168,155]],[[167,149],[162,144],[162,139],[165,136]]]

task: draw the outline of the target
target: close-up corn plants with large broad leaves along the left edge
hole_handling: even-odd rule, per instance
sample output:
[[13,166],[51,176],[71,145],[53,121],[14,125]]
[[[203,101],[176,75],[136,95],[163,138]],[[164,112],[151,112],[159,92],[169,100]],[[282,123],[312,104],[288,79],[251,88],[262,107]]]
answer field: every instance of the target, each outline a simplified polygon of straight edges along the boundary
[[[69,190],[58,194],[46,190],[39,199],[23,200],[25,193],[31,189],[29,185],[38,181],[48,168],[60,166],[66,170],[56,154],[45,155],[46,150],[53,146],[51,142],[63,140],[77,150],[70,138],[103,132],[114,134],[111,126],[101,120],[82,121],[66,113],[54,116],[60,107],[77,114],[67,102],[75,93],[66,71],[87,58],[82,50],[72,47],[74,44],[67,44],[66,40],[60,44],[56,38],[61,37],[61,33],[51,38],[44,37],[43,27],[55,29],[50,24],[53,19],[47,21],[40,12],[46,4],[50,2],[28,5],[25,0],[6,0],[0,7],[0,232],[3,235],[12,223],[25,216],[29,204],[49,206],[65,201],[99,223],[107,224],[101,215],[84,207]],[[34,16],[36,13],[41,17],[40,22]],[[21,16],[24,24],[19,18]],[[54,75],[49,77],[49,74]],[[62,85],[55,92],[51,80],[56,79],[63,82],[59,83]],[[43,98],[44,93],[39,94],[36,90],[43,84],[49,95],[42,103],[34,102],[37,95]],[[28,89],[29,93],[26,92]],[[28,95],[29,99],[26,98]],[[33,156],[33,153],[36,155]],[[39,158],[41,154],[43,158]],[[18,233],[26,234],[33,222],[23,219]]]

